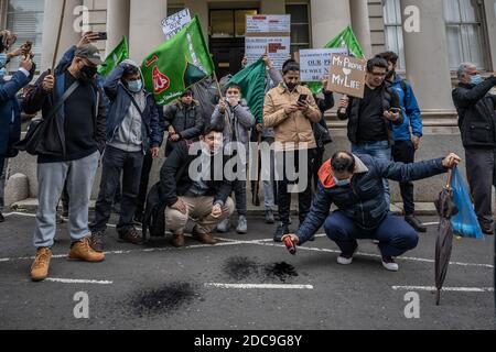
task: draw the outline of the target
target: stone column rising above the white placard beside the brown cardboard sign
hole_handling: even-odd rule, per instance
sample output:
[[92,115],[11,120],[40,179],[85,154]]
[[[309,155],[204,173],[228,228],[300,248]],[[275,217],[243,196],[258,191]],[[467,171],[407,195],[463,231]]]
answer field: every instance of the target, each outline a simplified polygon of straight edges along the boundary
[[349,0],[311,0],[313,47],[323,47],[352,24]]

